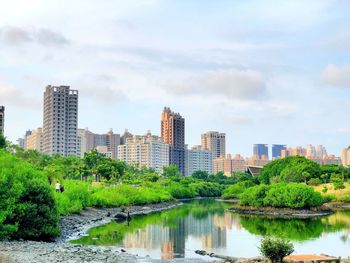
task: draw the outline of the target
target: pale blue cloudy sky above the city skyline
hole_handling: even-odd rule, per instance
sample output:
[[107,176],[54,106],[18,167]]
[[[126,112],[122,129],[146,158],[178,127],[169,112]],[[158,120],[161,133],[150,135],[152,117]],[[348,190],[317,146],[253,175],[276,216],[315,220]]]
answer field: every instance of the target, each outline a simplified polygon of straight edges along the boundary
[[12,141],[42,126],[47,85],[79,90],[79,127],[186,143],[350,145],[348,0],[0,0],[0,105]]

